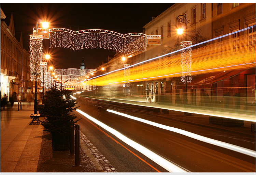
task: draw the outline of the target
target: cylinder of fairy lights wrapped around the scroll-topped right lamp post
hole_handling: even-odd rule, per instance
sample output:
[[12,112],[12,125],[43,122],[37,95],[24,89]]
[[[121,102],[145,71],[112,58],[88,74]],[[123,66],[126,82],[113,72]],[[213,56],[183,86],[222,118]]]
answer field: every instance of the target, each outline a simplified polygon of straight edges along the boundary
[[[192,42],[181,42],[181,48],[192,46]],[[191,82],[191,47],[181,50],[181,81],[184,83]]]

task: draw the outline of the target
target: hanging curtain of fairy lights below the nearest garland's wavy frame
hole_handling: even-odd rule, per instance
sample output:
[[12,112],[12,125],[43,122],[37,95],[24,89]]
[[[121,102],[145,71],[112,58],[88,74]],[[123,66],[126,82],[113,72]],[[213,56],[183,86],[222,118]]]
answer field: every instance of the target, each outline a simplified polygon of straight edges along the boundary
[[65,47],[72,50],[103,48],[119,52],[145,51],[143,36],[121,37],[109,33],[81,33],[53,31],[50,33],[50,47]]

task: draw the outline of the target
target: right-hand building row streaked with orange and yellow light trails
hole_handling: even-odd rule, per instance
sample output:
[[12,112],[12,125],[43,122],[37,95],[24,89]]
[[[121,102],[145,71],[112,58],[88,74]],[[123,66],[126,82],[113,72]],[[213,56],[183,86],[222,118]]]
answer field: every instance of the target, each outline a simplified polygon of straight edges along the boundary
[[[187,41],[191,39],[192,45],[195,45],[209,40],[192,48],[194,73],[191,83],[187,84],[187,92],[185,83],[181,82],[181,76],[177,74],[181,71],[180,52],[177,52],[165,58],[136,65],[144,65],[140,69],[131,68],[129,89],[133,94],[148,97],[147,101],[150,102],[161,103],[164,98],[166,102],[174,105],[183,105],[184,94],[187,94],[189,105],[211,105],[218,108],[221,104],[225,109],[231,109],[227,104],[234,106],[234,98],[240,96],[241,102],[236,108],[244,111],[253,109],[253,106],[255,108],[255,3],[176,3],[159,16],[153,17],[152,21],[143,27],[147,35],[161,35],[161,45],[147,45],[145,52],[131,52],[125,55],[116,53],[113,61],[110,60],[102,67],[114,67],[114,63],[121,62],[123,56],[128,58],[127,64],[133,65],[179,50],[179,42],[185,41],[185,32],[182,37],[177,35],[175,30],[178,28],[179,15],[186,16],[190,21],[187,25]],[[243,31],[247,27],[250,29]],[[236,33],[238,30],[241,31]],[[232,32],[234,33],[230,35]],[[220,38],[215,39],[216,37]],[[162,66],[158,66],[159,64]],[[234,68],[228,68],[229,66]],[[216,67],[223,69],[219,68],[216,73],[203,71]],[[227,67],[226,70],[224,67]],[[158,76],[163,72],[177,76]],[[121,81],[122,73],[119,74],[120,81],[112,81],[113,83],[120,84],[124,81]],[[145,74],[159,78],[146,80],[147,78],[143,77]],[[113,77],[117,79],[118,76],[116,74]],[[111,74],[108,79],[111,79]],[[100,82],[100,79],[97,79],[97,84]],[[108,81],[108,84],[112,82]],[[228,97],[231,100],[227,100]]]

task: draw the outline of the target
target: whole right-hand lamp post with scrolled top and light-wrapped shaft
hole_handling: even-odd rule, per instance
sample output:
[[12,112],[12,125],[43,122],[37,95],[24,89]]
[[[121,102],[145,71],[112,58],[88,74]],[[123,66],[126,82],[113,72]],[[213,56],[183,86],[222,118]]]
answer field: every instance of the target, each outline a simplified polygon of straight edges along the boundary
[[[177,20],[179,22],[179,29],[176,29],[178,34],[183,33],[183,28],[181,28],[181,23],[185,24],[185,31],[186,31],[186,41],[181,42],[181,48],[186,48],[192,45],[192,42],[187,41],[187,23],[190,22],[190,20],[187,20],[187,18],[184,15],[179,15],[177,17]],[[187,83],[191,82],[191,48],[184,49],[181,51],[181,68],[182,68],[182,79],[181,81],[185,83],[185,98],[184,98],[184,104],[188,103],[187,100]]]

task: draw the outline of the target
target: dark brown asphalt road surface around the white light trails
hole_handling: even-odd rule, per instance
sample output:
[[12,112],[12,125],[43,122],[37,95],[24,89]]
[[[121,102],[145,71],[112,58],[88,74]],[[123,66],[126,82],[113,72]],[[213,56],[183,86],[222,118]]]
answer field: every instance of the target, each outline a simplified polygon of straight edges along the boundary
[[[189,138],[179,133],[151,126],[111,112],[112,109],[152,122],[183,129],[189,132],[255,150],[255,138],[205,129],[157,116],[138,106],[94,100],[76,96],[80,110],[129,139],[152,150],[190,172],[255,172],[255,158],[209,143]],[[118,172],[169,172],[153,160],[118,139],[78,112],[80,130],[105,156]],[[137,155],[137,156],[136,156]]]

